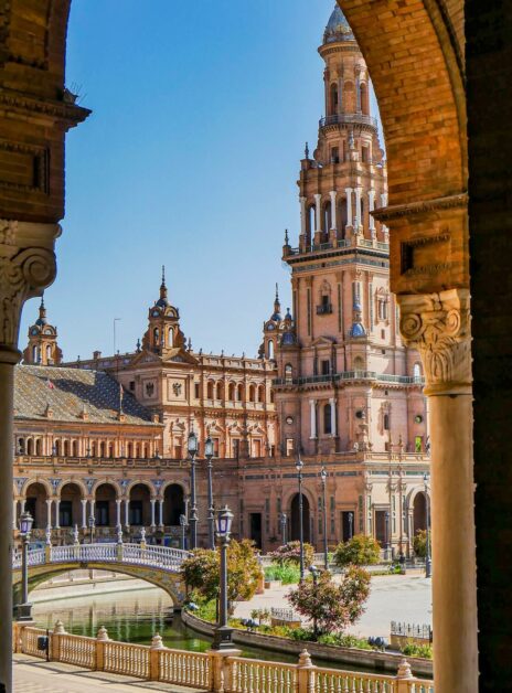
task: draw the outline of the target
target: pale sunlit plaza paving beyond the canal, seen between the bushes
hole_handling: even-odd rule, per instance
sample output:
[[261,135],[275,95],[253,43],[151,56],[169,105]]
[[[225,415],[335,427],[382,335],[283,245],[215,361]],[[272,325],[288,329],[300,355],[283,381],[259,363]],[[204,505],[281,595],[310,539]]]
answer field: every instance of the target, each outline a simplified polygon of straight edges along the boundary
[[[237,605],[235,616],[248,618],[253,609],[270,609],[289,606],[286,595],[294,586],[266,589],[250,601]],[[372,578],[372,590],[362,618],[349,629],[356,636],[390,635],[391,621],[431,625],[431,580],[423,571],[409,571],[407,575],[384,575]]]

